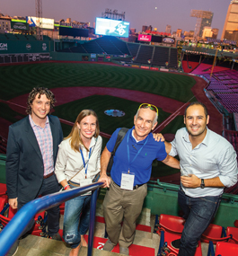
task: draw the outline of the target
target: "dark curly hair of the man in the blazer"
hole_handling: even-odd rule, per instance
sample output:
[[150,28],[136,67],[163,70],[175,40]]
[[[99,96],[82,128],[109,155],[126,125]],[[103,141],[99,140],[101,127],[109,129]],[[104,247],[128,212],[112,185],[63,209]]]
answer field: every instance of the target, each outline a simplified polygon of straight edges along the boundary
[[45,94],[48,100],[50,100],[50,110],[54,108],[55,103],[57,102],[54,93],[52,93],[50,90],[48,90],[48,88],[45,87],[35,87],[28,95],[26,109],[27,114],[31,115],[31,105],[32,102],[35,100],[36,96],[38,95],[38,99],[40,99],[40,96],[43,94]]

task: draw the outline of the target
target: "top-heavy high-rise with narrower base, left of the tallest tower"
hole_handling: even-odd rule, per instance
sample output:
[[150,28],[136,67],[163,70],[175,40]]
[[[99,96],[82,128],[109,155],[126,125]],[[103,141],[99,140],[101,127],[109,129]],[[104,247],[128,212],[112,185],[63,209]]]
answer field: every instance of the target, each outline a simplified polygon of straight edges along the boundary
[[194,39],[197,40],[198,37],[201,37],[203,28],[205,26],[211,26],[213,13],[208,11],[201,10],[191,10],[190,17],[196,17],[197,22],[194,30]]

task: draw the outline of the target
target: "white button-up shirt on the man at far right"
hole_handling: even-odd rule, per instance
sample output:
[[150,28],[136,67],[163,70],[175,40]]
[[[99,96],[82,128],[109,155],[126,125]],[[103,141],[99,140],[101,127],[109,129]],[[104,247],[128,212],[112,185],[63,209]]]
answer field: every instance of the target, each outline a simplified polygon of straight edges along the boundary
[[[186,128],[176,132],[170,155],[179,155],[181,170],[195,174],[199,179],[219,177],[225,187],[237,182],[237,160],[234,147],[225,139],[207,128],[204,140],[192,149]],[[219,196],[224,188],[205,187],[204,189],[185,188],[185,194],[193,197]]]

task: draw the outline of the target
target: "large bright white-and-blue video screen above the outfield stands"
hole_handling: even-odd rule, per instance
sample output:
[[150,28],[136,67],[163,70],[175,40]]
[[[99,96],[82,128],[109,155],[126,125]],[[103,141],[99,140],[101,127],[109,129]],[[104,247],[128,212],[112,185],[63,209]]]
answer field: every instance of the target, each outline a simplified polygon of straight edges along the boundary
[[128,38],[129,22],[96,18],[95,34]]

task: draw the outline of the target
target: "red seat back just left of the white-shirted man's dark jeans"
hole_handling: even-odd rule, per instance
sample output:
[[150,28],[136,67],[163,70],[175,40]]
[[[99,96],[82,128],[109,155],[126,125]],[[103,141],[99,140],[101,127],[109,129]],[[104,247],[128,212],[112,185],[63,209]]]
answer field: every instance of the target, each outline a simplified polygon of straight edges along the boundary
[[159,229],[174,234],[181,234],[184,227],[184,218],[181,216],[160,215]]

